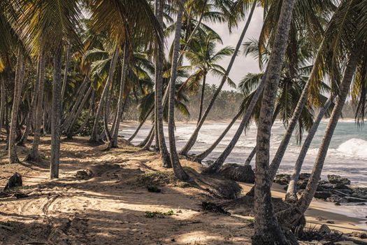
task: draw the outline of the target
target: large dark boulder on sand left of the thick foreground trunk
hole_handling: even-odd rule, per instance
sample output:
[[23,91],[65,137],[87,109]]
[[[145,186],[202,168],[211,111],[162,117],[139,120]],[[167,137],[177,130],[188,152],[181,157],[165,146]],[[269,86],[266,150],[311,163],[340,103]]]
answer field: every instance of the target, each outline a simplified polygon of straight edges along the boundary
[[220,174],[233,181],[255,183],[255,174],[250,165],[229,163],[220,169]]

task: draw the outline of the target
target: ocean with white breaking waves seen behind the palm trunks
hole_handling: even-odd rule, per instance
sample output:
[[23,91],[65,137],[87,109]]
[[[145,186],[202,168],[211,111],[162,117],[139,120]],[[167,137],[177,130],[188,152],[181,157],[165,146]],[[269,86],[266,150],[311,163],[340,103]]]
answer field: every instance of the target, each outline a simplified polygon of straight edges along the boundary
[[[224,121],[211,121],[209,123],[205,123],[199,133],[196,144],[190,153],[197,154],[206,150],[206,148],[213,144],[215,139],[217,139],[227,125],[228,122]],[[326,125],[327,120],[320,123],[317,134],[315,134],[308,154],[306,155],[301,172],[312,171]],[[136,127],[136,123],[129,123],[129,127],[122,126],[120,134],[128,139],[131,134],[134,133]],[[150,123],[146,123],[132,143],[138,144],[143,141],[147,133],[150,131],[150,127]],[[193,122],[176,124],[175,138],[178,150],[187,142],[195,127],[196,123]],[[238,123],[235,123],[228,134],[226,134],[226,137],[224,137],[222,142],[217,146],[217,148],[215,148],[213,153],[203,161],[203,163],[208,160],[215,160],[222,151],[224,151],[224,148],[226,148],[231,141],[237,128]],[[167,136],[168,132],[166,128],[165,131]],[[282,122],[276,121],[273,125],[271,135],[271,158],[275,155],[284,133],[285,126]],[[246,130],[245,134],[240,137],[235,148],[233,148],[231,155],[226,159],[226,163],[234,162],[243,164],[254,146],[256,146],[256,135],[257,127],[252,124]],[[306,135],[307,132],[303,134],[303,140]],[[168,137],[166,137],[166,140],[168,140]],[[301,145],[297,144],[296,133],[294,133],[278,172],[287,174],[292,173],[299,151],[301,151]],[[254,160],[252,160],[251,165],[254,166]],[[324,163],[322,179],[326,179],[328,174],[344,176],[352,181],[352,185],[367,187],[367,125],[357,125],[354,123],[354,120],[339,121],[336,131],[333,134],[333,139]]]

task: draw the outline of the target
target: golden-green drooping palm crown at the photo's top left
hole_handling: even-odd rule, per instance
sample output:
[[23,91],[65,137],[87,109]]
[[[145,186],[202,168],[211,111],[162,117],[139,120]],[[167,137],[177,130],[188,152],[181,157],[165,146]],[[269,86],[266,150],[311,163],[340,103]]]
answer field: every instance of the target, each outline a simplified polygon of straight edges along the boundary
[[21,36],[32,54],[55,52],[63,41],[75,48],[82,47],[76,31],[81,18],[78,1],[31,0],[20,3]]

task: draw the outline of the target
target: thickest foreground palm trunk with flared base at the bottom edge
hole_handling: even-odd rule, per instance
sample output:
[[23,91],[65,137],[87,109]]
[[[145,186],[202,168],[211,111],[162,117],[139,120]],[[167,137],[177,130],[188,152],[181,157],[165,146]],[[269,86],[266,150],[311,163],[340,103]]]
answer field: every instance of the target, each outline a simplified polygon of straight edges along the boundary
[[257,153],[254,189],[254,236],[252,244],[285,244],[285,237],[275,217],[271,201],[269,179],[269,149],[271,126],[274,115],[274,101],[278,91],[280,72],[287,47],[292,11],[295,0],[284,0],[278,20],[271,57],[266,67],[266,86],[261,102],[259,125],[257,127]]

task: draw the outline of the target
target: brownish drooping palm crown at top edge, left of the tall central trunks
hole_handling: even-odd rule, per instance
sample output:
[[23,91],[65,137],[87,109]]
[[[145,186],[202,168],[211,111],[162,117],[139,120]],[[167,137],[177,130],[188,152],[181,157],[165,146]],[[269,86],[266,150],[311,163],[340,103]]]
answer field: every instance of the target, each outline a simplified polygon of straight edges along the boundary
[[120,45],[139,41],[148,50],[163,45],[163,31],[146,0],[90,0],[92,26],[96,31],[108,31],[109,37]]

